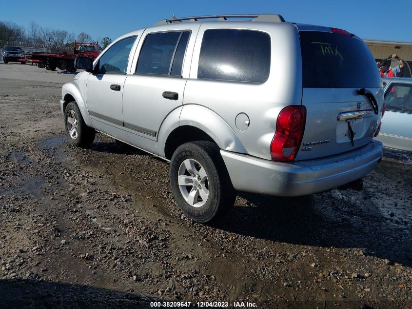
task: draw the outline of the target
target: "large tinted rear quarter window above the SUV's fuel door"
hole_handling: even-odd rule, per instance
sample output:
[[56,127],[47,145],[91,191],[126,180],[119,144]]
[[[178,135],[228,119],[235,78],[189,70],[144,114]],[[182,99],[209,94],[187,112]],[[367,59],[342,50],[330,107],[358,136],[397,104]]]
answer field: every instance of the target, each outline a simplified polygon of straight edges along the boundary
[[269,77],[271,41],[253,30],[210,29],[203,35],[198,79],[265,82]]

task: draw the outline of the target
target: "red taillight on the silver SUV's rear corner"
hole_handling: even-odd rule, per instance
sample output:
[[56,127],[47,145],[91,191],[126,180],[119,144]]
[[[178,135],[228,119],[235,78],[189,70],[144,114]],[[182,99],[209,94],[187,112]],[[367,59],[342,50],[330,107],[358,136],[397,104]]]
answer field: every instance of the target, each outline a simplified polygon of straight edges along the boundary
[[302,142],[306,123],[306,107],[290,105],[277,116],[276,132],[271,143],[272,160],[292,161]]

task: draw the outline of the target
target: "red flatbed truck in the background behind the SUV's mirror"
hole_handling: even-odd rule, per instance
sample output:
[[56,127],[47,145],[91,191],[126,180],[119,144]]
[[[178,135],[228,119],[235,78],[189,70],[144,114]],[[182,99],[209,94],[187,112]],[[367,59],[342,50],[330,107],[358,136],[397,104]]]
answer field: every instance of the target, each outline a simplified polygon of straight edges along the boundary
[[59,68],[67,72],[76,72],[74,62],[77,57],[90,57],[94,60],[101,50],[98,43],[79,43],[75,41],[73,54],[67,52],[58,54],[34,52],[26,54],[26,59],[29,62],[37,62],[40,68],[46,68],[46,70],[54,71]]

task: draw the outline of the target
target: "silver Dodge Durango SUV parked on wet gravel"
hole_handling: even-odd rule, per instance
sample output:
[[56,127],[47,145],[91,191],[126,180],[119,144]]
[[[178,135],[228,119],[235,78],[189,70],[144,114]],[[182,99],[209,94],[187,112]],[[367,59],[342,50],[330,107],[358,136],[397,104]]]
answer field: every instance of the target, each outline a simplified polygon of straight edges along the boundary
[[277,14],[174,18],[76,67],[60,101],[70,141],[98,131],[170,161],[177,205],[197,222],[230,209],[236,190],[330,190],[382,157],[382,81],[345,30]]

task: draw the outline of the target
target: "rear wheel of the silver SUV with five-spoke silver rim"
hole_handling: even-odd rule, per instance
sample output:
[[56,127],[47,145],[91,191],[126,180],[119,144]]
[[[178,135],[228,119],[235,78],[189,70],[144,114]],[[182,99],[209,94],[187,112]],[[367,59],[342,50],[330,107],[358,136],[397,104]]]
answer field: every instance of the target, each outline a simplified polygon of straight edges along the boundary
[[177,206],[199,223],[223,216],[235,203],[236,191],[219,150],[208,141],[186,143],[176,149],[170,162]]

